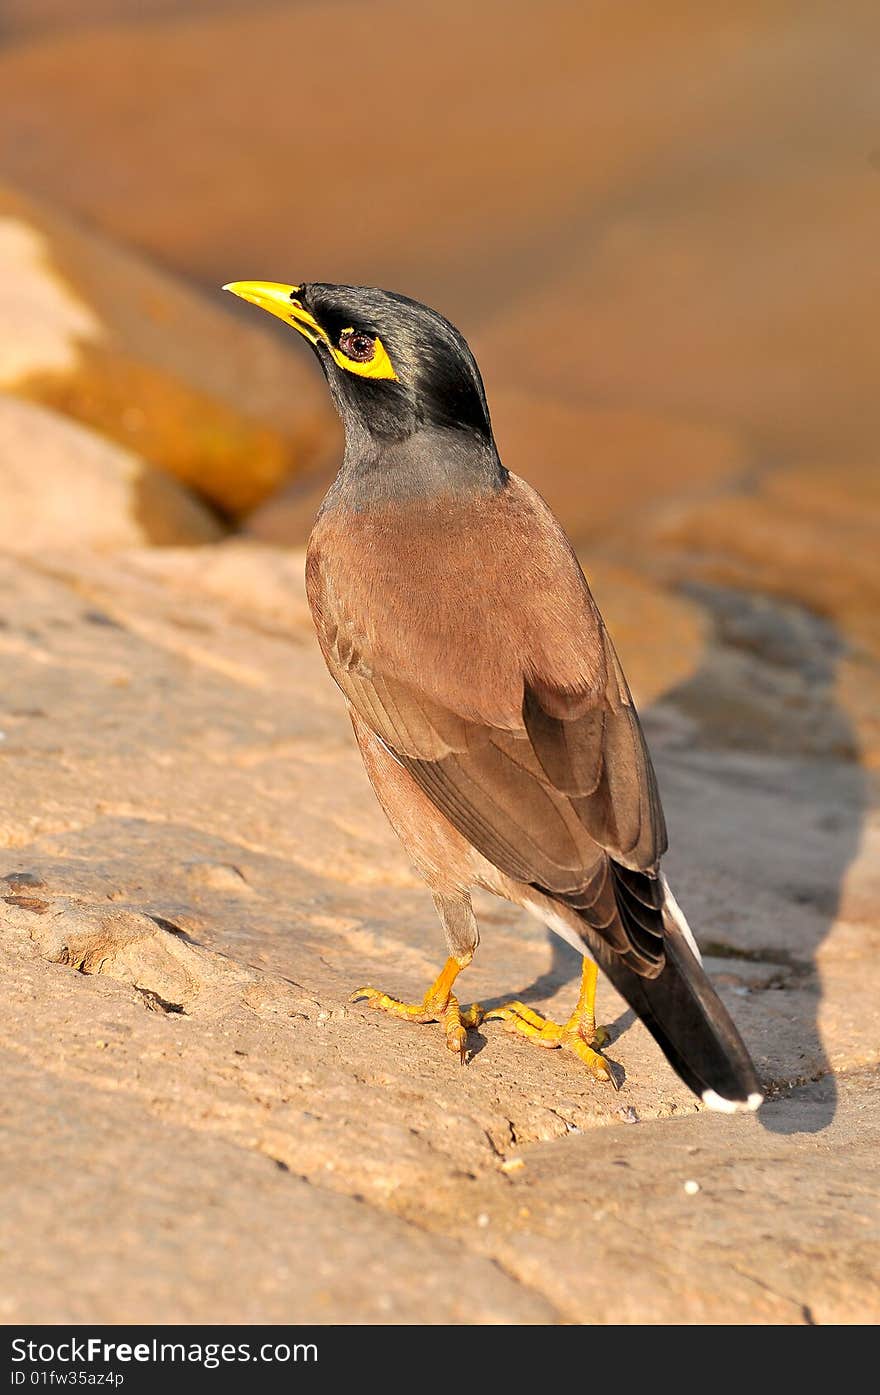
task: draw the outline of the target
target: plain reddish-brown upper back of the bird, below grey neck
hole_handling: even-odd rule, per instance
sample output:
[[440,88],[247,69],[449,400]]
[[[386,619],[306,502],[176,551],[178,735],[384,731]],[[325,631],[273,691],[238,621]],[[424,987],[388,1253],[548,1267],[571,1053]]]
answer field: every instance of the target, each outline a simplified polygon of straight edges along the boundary
[[474,720],[522,720],[523,682],[598,686],[601,621],[552,513],[523,481],[495,495],[335,505],[307,590],[331,670],[393,674]]

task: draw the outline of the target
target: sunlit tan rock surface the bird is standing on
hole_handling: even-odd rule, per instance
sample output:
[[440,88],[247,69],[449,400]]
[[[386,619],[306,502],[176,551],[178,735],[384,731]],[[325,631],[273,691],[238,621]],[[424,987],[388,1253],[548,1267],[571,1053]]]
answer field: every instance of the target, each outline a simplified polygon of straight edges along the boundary
[[[301,558],[0,565],[6,1321],[880,1317],[879,830],[851,753],[768,753],[757,643],[801,624],[817,664],[817,622],[731,601],[725,631],[655,589],[642,626],[644,582],[590,566],[671,875],[768,1088],[757,1119],[722,1119],[607,985],[618,1094],[494,1025],[462,1070],[438,1030],[349,1003],[370,981],[421,995],[442,947],[324,672]],[[664,668],[640,635],[675,626]],[[720,675],[742,728],[700,721],[693,685]],[[478,914],[467,993],[565,1013],[573,953],[502,903]]]

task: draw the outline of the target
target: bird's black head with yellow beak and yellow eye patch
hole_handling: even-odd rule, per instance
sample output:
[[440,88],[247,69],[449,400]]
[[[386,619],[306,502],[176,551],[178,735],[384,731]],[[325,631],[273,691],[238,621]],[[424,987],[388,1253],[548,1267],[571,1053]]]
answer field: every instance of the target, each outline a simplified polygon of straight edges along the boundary
[[491,442],[474,356],[428,306],[370,286],[234,280],[223,289],[308,339],[346,434],[402,439],[439,427]]

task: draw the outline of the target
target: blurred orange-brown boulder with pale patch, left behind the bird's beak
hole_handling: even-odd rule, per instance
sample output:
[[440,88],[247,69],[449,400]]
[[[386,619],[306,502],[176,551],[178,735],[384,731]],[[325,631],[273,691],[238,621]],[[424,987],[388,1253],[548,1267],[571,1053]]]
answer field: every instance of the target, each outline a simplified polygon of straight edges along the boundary
[[0,186],[0,391],[99,430],[225,513],[304,469],[329,412],[307,356]]

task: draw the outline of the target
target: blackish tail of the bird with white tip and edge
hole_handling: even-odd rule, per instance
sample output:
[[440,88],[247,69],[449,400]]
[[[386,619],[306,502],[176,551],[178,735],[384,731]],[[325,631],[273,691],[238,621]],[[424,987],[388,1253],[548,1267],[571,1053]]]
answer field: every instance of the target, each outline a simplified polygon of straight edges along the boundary
[[725,1113],[757,1109],[764,1096],[752,1057],[706,975],[693,935],[665,877],[662,883],[665,964],[655,978],[636,974],[579,917],[580,933],[672,1069],[710,1109]]

